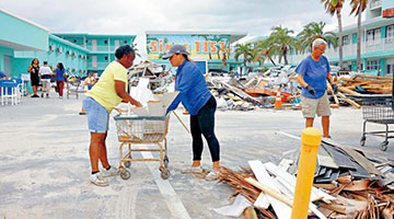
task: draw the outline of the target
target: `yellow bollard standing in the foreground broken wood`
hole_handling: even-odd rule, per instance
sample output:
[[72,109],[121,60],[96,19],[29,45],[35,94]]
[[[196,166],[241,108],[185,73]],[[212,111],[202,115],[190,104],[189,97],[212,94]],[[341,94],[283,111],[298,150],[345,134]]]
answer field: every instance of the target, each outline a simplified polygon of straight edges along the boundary
[[301,153],[297,174],[291,219],[306,219],[313,176],[316,166],[317,150],[322,132],[316,128],[305,128],[301,136]]

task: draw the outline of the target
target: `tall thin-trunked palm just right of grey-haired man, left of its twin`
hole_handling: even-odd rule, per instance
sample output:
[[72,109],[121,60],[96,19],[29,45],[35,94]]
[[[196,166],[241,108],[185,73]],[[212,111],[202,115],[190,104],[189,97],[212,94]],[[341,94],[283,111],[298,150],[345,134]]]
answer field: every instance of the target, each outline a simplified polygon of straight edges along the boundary
[[340,10],[345,3],[345,0],[321,0],[324,3],[324,8],[327,10],[327,13],[329,13],[332,16],[334,14],[337,15],[338,19],[338,47],[339,47],[339,68],[343,68],[344,65],[344,48],[343,48],[343,39],[341,39],[341,13]]

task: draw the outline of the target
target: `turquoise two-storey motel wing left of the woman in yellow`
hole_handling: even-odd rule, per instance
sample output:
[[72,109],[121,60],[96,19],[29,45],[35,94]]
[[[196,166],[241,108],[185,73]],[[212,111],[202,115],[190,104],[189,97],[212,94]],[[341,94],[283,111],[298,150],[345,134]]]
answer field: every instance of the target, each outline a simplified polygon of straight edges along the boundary
[[136,35],[51,33],[24,18],[0,9],[0,70],[9,77],[27,73],[34,58],[56,68],[62,62],[70,76],[97,72],[115,60],[115,49],[132,44]]

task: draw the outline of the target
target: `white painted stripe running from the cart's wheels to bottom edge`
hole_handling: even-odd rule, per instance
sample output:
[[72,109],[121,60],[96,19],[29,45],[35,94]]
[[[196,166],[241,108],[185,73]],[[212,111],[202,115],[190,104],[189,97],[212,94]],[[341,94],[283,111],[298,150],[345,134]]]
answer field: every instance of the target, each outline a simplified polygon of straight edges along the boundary
[[[136,146],[137,148],[137,146]],[[142,148],[142,147],[141,147]],[[152,159],[153,155],[149,151],[141,151],[144,159]],[[149,171],[153,175],[155,183],[158,184],[160,193],[163,195],[164,200],[171,211],[173,218],[192,219],[188,215],[185,206],[182,204],[181,198],[176,195],[174,188],[170,184],[169,180],[163,180],[160,176],[159,165],[157,162],[146,162]]]

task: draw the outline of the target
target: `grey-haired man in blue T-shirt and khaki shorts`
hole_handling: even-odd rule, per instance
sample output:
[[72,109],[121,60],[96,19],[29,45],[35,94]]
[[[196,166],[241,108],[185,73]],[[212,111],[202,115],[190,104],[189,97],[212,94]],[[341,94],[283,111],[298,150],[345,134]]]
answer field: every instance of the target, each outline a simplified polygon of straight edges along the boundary
[[329,101],[326,92],[327,81],[334,93],[338,92],[333,82],[328,60],[322,56],[327,43],[317,38],[312,44],[312,54],[304,58],[296,68],[298,81],[303,87],[301,91],[302,114],[306,118],[305,126],[313,127],[315,115],[322,116],[323,137],[329,138]]

